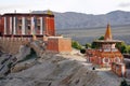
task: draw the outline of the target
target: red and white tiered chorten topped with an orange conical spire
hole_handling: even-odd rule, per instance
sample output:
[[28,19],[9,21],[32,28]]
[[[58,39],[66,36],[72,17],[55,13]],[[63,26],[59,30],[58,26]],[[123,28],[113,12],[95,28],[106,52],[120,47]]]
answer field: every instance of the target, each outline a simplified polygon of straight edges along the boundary
[[123,56],[115,47],[116,43],[121,43],[121,41],[113,40],[110,26],[107,25],[104,40],[95,40],[96,48],[87,49],[87,60],[100,67],[110,67],[113,62],[122,63]]

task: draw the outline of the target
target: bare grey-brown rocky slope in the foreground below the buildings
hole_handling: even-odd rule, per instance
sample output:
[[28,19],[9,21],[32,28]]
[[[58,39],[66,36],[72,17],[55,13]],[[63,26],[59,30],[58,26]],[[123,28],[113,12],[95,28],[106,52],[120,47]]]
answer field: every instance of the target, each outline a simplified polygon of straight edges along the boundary
[[[81,57],[80,57],[81,58]],[[2,86],[119,86],[119,81],[113,80],[110,75],[105,78],[99,71],[92,70],[91,63],[78,61],[80,59],[73,55],[60,55],[52,53],[42,54],[37,59],[38,63],[11,73],[0,81]],[[77,60],[76,60],[77,59]],[[113,74],[113,73],[112,73]],[[105,81],[104,81],[105,80]],[[110,81],[112,82],[112,81]]]

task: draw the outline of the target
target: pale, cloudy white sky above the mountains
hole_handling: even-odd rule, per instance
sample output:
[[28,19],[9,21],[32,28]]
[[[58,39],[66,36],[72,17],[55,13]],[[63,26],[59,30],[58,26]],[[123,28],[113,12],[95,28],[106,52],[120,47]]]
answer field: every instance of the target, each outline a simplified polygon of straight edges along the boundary
[[130,12],[130,0],[0,0],[0,14],[44,10],[86,14],[106,14],[116,10]]

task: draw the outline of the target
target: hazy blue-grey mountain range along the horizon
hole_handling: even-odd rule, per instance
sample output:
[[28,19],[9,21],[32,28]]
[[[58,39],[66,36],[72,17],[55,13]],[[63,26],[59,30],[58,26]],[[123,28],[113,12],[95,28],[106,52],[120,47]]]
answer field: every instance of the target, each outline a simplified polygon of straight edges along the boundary
[[[34,11],[32,13],[44,13],[44,11]],[[130,26],[130,12],[113,11],[107,14],[93,15],[76,12],[58,13],[55,15],[56,29],[81,29],[112,26]]]

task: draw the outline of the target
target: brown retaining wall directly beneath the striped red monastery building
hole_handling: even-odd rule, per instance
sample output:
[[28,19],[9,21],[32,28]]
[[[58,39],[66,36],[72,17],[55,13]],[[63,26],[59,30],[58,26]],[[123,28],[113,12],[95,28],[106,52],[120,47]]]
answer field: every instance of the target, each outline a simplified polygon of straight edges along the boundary
[[3,53],[16,54],[22,44],[26,44],[29,39],[20,38],[0,38],[0,51]]

